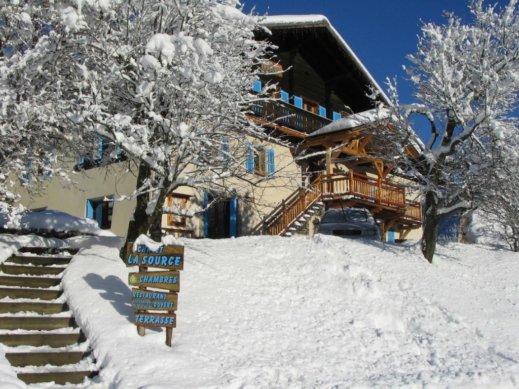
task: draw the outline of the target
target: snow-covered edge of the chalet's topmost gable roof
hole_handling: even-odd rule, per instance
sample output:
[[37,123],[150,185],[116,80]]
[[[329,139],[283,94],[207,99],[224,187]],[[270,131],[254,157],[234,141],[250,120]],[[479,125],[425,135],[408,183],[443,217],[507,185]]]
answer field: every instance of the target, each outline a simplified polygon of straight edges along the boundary
[[342,48],[348,53],[349,57],[353,60],[353,62],[359,67],[359,70],[366,76],[368,80],[373,84],[373,86],[380,93],[384,102],[386,104],[391,104],[388,96],[384,92],[382,88],[378,85],[375,78],[367,71],[367,68],[361,62],[361,60],[357,57],[357,55],[351,50],[346,41],[340,34],[335,30],[335,27],[330,23],[328,18],[324,15],[275,15],[275,16],[267,16],[262,22],[263,25],[267,28],[276,28],[276,27],[289,27],[289,26],[318,26],[322,25],[326,27],[330,33],[337,39],[338,43]]

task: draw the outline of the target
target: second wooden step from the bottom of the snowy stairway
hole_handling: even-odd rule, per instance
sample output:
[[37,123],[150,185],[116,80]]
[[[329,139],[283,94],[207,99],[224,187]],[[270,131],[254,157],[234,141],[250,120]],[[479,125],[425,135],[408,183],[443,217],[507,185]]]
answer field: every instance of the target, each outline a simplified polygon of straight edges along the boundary
[[29,352],[29,353],[5,353],[5,357],[11,366],[63,366],[78,363],[89,353],[84,351],[59,351],[59,352]]

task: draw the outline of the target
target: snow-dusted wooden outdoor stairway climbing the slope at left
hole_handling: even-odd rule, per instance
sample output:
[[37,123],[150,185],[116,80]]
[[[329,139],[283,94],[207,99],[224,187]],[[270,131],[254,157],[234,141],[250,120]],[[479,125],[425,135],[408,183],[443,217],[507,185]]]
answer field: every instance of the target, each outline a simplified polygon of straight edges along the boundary
[[25,383],[78,384],[97,375],[60,289],[72,249],[22,248],[0,272],[0,343]]

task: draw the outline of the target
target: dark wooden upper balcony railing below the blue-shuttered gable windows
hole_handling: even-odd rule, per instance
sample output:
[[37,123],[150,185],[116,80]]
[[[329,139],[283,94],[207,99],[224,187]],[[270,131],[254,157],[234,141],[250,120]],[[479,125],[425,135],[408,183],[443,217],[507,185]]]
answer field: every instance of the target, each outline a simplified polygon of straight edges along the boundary
[[252,107],[252,111],[258,116],[274,121],[283,127],[288,127],[299,132],[309,134],[330,124],[332,120],[319,116],[306,109],[285,103],[284,101],[267,102],[258,101]]

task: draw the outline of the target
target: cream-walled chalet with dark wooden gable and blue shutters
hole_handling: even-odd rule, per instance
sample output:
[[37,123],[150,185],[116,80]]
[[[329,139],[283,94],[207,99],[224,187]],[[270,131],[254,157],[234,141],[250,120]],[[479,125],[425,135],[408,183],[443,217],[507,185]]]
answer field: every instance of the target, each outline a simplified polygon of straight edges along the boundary
[[[228,199],[192,218],[163,215],[165,233],[190,238],[311,235],[313,219],[327,207],[342,205],[368,209],[381,221],[386,240],[418,239],[420,202],[394,184],[398,179],[388,180],[392,166],[372,158],[371,136],[363,131],[364,124],[353,120],[370,117],[370,86],[380,92],[379,99],[387,99],[384,92],[324,16],[271,16],[265,25],[271,35],[258,31],[257,38],[268,38],[278,47],[276,61],[271,74],[252,89],[260,91],[265,82],[273,82],[280,100],[255,106],[254,118],[278,118],[271,130],[282,133],[293,148],[265,143],[260,154],[247,161],[248,170],[266,175],[282,172],[282,166],[296,166],[291,173],[301,178],[298,183],[280,178],[253,193],[251,202],[261,199],[261,207]],[[302,149],[315,157],[294,163],[293,156]],[[64,189],[51,179],[46,193],[33,200],[24,195],[22,203],[32,210],[90,217],[101,228],[125,235],[134,202],[107,200],[135,189],[136,178],[125,174],[126,166],[124,161],[115,162],[107,173],[95,164],[85,166],[77,186]],[[210,200],[209,195],[185,187],[171,193],[165,205],[196,209]]]

